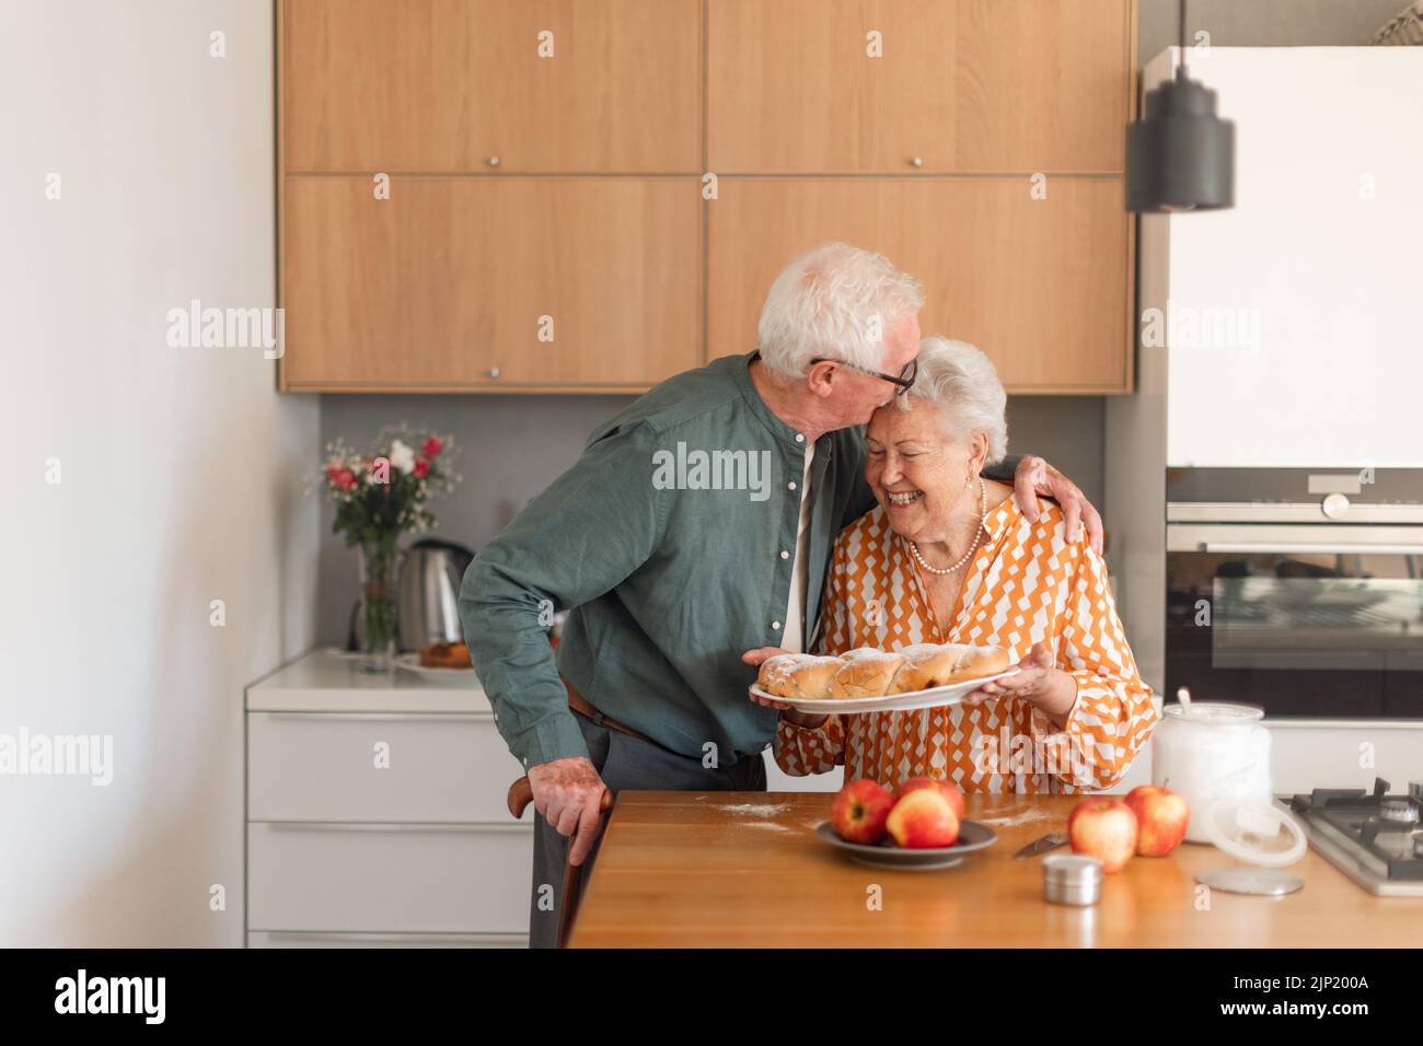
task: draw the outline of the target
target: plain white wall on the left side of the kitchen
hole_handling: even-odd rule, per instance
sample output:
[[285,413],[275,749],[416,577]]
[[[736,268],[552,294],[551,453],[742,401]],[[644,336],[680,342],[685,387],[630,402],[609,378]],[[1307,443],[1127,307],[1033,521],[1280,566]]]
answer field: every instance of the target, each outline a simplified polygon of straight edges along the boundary
[[317,404],[165,315],[275,305],[272,6],[26,0],[0,41],[0,734],[114,759],[0,776],[0,945],[239,945],[242,687],[314,635]]

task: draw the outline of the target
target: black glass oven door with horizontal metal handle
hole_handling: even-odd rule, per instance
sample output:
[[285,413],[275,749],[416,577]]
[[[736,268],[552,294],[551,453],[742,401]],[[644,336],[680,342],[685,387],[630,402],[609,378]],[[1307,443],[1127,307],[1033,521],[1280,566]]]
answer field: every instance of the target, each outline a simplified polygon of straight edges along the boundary
[[1423,719],[1423,528],[1173,524],[1167,694]]

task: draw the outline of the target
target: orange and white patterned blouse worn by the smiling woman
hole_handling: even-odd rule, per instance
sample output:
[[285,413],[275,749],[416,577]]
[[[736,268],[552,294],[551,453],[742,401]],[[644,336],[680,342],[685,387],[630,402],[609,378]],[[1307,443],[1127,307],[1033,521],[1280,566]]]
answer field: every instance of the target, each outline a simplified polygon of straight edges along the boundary
[[1062,509],[1042,501],[1036,524],[1009,497],[983,521],[951,622],[936,620],[909,554],[878,505],[835,541],[817,653],[912,643],[1003,646],[1010,663],[1033,643],[1077,680],[1066,730],[1020,697],[978,706],[831,716],[808,730],[781,720],[776,761],[788,774],[832,770],[898,787],[921,774],[963,791],[1074,793],[1116,784],[1157,722],[1117,619],[1106,565],[1083,539],[1067,544]]

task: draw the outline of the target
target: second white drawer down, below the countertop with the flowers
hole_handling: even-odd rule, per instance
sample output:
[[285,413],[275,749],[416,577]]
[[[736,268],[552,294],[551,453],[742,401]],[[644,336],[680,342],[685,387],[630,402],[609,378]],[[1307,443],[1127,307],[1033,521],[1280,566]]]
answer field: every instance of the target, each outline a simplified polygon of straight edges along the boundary
[[248,926],[527,934],[522,825],[249,824]]

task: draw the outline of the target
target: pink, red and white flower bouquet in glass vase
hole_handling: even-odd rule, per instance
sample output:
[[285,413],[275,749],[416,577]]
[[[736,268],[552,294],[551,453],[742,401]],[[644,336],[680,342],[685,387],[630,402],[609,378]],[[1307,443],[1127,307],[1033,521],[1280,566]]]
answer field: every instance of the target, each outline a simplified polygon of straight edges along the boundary
[[460,481],[450,471],[451,455],[450,437],[417,435],[407,426],[383,428],[370,454],[340,440],[326,448],[322,472],[336,505],[332,534],[344,535],[357,552],[360,666],[370,672],[394,666],[400,535],[435,525],[430,497]]

